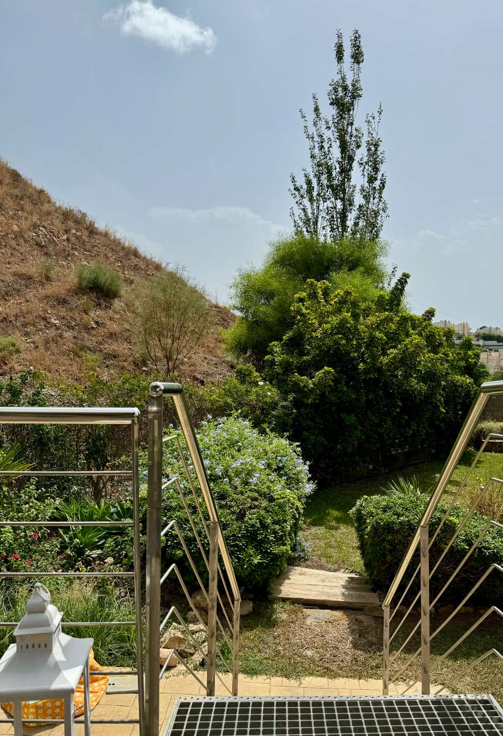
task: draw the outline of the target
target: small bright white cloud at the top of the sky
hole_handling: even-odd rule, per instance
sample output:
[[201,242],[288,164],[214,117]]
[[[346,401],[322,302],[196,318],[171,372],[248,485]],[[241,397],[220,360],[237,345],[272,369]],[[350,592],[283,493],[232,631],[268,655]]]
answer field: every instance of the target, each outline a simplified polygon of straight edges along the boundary
[[125,35],[138,36],[163,49],[185,54],[195,46],[211,54],[217,36],[211,28],[198,26],[187,15],[171,13],[166,7],[156,7],[152,0],[130,0],[103,16],[114,21]]

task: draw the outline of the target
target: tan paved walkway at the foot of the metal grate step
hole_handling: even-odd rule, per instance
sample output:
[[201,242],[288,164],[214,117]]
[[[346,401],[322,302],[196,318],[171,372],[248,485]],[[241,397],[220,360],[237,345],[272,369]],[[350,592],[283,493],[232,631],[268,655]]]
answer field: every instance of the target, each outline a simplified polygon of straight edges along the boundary
[[[202,673],[205,676],[205,673]],[[230,686],[231,676],[220,675]],[[406,686],[401,685],[399,690]],[[356,679],[328,679],[326,677],[304,677],[302,680],[289,680],[284,677],[246,677],[239,676],[240,696],[371,696],[381,695],[381,680]],[[397,687],[390,686],[390,695],[398,692]],[[417,685],[409,690],[410,695],[421,693],[421,686]],[[203,695],[203,687],[187,674],[166,676],[161,681],[161,733],[166,726],[169,713],[175,699],[179,696]],[[217,679],[217,695],[229,695],[228,690]],[[117,693],[105,695],[92,713],[93,718],[137,718],[138,699],[134,694]],[[5,717],[5,716],[4,716]],[[79,718],[75,722],[76,736],[83,736],[84,728],[77,725],[82,722]],[[9,723],[0,723],[0,735],[13,735],[14,729]],[[63,736],[63,726],[39,726],[38,728],[24,728],[28,736]],[[92,736],[136,736],[138,726],[124,723],[96,724],[92,726]]]

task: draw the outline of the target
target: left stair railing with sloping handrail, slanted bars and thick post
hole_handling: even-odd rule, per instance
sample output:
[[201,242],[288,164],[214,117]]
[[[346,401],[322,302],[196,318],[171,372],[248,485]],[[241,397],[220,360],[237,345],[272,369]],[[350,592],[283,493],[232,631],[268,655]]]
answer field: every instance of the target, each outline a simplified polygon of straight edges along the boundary
[[[191,464],[194,468],[194,476],[189,470],[186,454],[180,445],[177,434],[163,436],[163,401],[164,397],[170,397],[175,405],[177,417],[186,442],[186,452],[189,454]],[[195,518],[189,509],[186,495],[176,476],[163,481],[163,445],[174,442],[180,464],[189,486],[189,494],[196,509]],[[195,481],[195,483],[194,483]],[[196,487],[196,484],[198,487]],[[208,571],[208,582],[205,584],[197,572],[197,566],[189,552],[183,535],[180,532],[176,520],[170,520],[164,528],[161,528],[161,503],[163,491],[175,488],[183,504],[183,509],[189,519],[189,523],[197,542],[197,547],[203,558],[205,569]],[[200,526],[202,534],[197,531]],[[177,534],[180,545],[186,555],[192,573],[197,580],[200,590],[203,592],[208,605],[208,623],[206,624],[194,606],[193,596],[186,587],[183,577],[177,565],[170,565],[164,572],[161,571],[161,539],[166,534]],[[201,535],[208,542],[206,545]],[[207,553],[209,550],[209,553]],[[208,636],[208,651],[205,652],[194,639],[189,627],[180,615],[176,606],[171,606],[161,619],[161,586],[169,578],[175,575],[182,587],[191,611],[199,620]],[[229,618],[224,599],[232,611]],[[167,662],[172,655],[178,659],[181,665],[188,670],[192,676],[205,688],[208,696],[215,693],[215,683],[218,678],[231,695],[237,695],[238,687],[238,645],[239,645],[239,609],[241,595],[234,574],[231,558],[225,544],[222,528],[219,523],[217,508],[214,503],[205,464],[201,456],[197,436],[192,426],[189,409],[187,407],[183,389],[178,383],[155,382],[150,385],[149,396],[149,461],[148,461],[148,507],[147,507],[147,672],[145,687],[145,708],[147,716],[147,729],[149,736],[155,736],[159,732],[159,681],[166,670]],[[222,620],[219,616],[222,612]],[[200,652],[206,668],[205,682],[199,674],[186,662],[177,651],[169,652],[166,665],[161,668],[159,648],[161,643],[161,631],[172,617],[183,626],[187,636]],[[231,620],[232,619],[232,620]],[[231,632],[229,636],[228,632]],[[219,648],[217,634],[232,651],[232,664],[228,665],[222,651]],[[224,668],[232,673],[232,687],[228,688],[225,681],[217,671],[217,658]]]

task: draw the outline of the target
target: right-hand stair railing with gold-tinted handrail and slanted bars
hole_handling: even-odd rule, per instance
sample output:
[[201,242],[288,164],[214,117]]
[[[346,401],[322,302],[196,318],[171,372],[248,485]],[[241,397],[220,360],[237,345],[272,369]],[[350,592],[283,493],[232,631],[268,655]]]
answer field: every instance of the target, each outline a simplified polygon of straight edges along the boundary
[[[407,645],[409,640],[412,638],[413,634],[415,634],[415,631],[418,630],[419,626],[421,626],[421,647],[418,648],[417,651],[415,651],[415,654],[413,654],[412,658],[409,659],[409,661],[407,662],[407,665],[404,665],[404,667],[402,667],[402,669],[400,670],[400,673],[403,670],[407,670],[409,668],[409,665],[411,665],[412,662],[414,661],[415,657],[417,657],[418,654],[421,652],[421,689],[422,689],[423,694],[429,694],[429,689],[430,689],[429,645],[430,645],[431,640],[440,631],[440,629],[442,629],[443,626],[445,626],[445,624],[448,623],[449,620],[451,620],[451,618],[460,609],[460,607],[465,603],[465,601],[468,600],[468,598],[470,597],[470,595],[472,595],[472,593],[476,590],[476,588],[479,587],[480,584],[482,584],[482,581],[484,581],[485,578],[488,576],[488,574],[490,573],[490,570],[493,570],[495,567],[494,565],[492,565],[484,573],[484,575],[479,579],[476,585],[472,588],[471,592],[468,593],[467,596],[465,596],[462,603],[456,607],[456,609],[451,614],[451,616],[449,616],[449,618],[443,624],[441,624],[436,629],[436,631],[430,634],[429,618],[430,618],[430,613],[432,612],[433,606],[437,603],[441,595],[443,595],[443,593],[446,591],[446,588],[449,587],[449,584],[451,584],[451,581],[460,571],[460,569],[465,564],[469,556],[471,556],[471,553],[473,553],[476,546],[479,544],[482,537],[485,536],[489,528],[491,526],[502,527],[501,524],[493,520],[488,521],[488,523],[485,525],[485,528],[482,530],[481,534],[479,534],[479,537],[476,539],[474,544],[471,545],[471,548],[469,549],[468,553],[465,554],[460,564],[457,565],[457,567],[455,568],[454,573],[451,574],[446,584],[443,585],[440,592],[435,596],[435,599],[431,601],[430,595],[429,595],[430,578],[432,578],[432,576],[435,574],[437,568],[440,566],[440,563],[446,556],[447,551],[449,551],[449,548],[451,548],[451,545],[456,539],[457,535],[460,534],[462,527],[468,521],[468,518],[471,516],[471,513],[474,512],[474,509],[476,508],[476,505],[479,502],[479,499],[482,498],[482,495],[485,494],[486,490],[492,484],[503,482],[500,478],[489,478],[488,481],[481,486],[481,489],[478,495],[476,496],[476,500],[474,501],[474,503],[471,503],[471,506],[467,510],[465,517],[457,525],[457,529],[456,531],[454,531],[453,537],[451,537],[451,539],[447,543],[446,548],[444,548],[443,553],[440,555],[440,558],[437,560],[436,564],[430,568],[430,565],[429,565],[430,548],[432,548],[433,542],[435,542],[435,539],[437,539],[437,534],[439,533],[440,528],[443,526],[444,522],[446,521],[446,518],[449,516],[452,506],[454,506],[454,503],[456,502],[457,498],[459,498],[460,493],[462,492],[462,489],[465,487],[466,483],[468,482],[468,478],[471,475],[472,470],[474,470],[474,467],[476,466],[476,463],[479,460],[480,455],[484,452],[485,447],[488,445],[488,442],[490,442],[493,439],[499,439],[499,440],[503,439],[501,435],[488,434],[484,442],[482,442],[482,445],[479,448],[478,452],[476,453],[476,456],[474,460],[472,461],[471,466],[468,468],[467,472],[465,473],[464,478],[462,479],[460,486],[457,488],[457,491],[454,493],[454,496],[451,499],[449,508],[447,509],[445,514],[443,514],[443,519],[440,520],[440,523],[437,526],[435,532],[430,537],[429,522],[432,519],[432,514],[434,514],[435,509],[437,509],[440,499],[443,496],[443,493],[446,491],[447,485],[449,484],[449,481],[451,480],[451,476],[454,473],[454,470],[457,467],[457,464],[459,463],[462,457],[462,453],[465,452],[465,449],[468,445],[468,441],[476,427],[477,422],[479,422],[482,412],[484,411],[485,406],[488,403],[488,399],[491,396],[498,395],[498,394],[503,394],[503,381],[488,381],[486,383],[483,383],[482,386],[480,386],[479,393],[476,395],[474,403],[472,404],[470,411],[468,411],[468,415],[462,424],[460,433],[458,434],[457,439],[454,442],[454,445],[452,447],[451,453],[449,454],[449,457],[446,460],[446,464],[444,465],[442,473],[440,474],[440,478],[437,481],[435,490],[432,493],[431,498],[429,498],[429,502],[427,503],[426,509],[423,512],[423,517],[421,518],[421,522],[419,523],[418,528],[416,529],[415,533],[412,536],[412,539],[409,543],[407,551],[404,554],[404,557],[401,560],[401,563],[398,567],[397,573],[395,574],[395,577],[393,578],[393,582],[390,585],[390,589],[388,590],[386,596],[384,597],[384,601],[382,603],[382,607],[384,609],[384,637],[383,637],[383,647],[384,647],[384,651],[383,651],[383,693],[384,694],[388,693],[390,665],[393,663],[393,661],[395,661],[395,659],[397,659],[398,655]],[[395,593],[397,592],[398,587],[401,584],[401,581],[403,580],[405,574],[407,573],[407,570],[409,569],[409,565],[412,562],[412,558],[415,555],[415,553],[417,553],[418,548],[419,548],[419,555],[420,555],[419,565],[418,567],[415,568],[415,572],[410,578],[405,591],[402,593],[401,598],[398,601],[398,604],[395,605],[395,609],[393,610],[393,612],[391,612],[390,607],[391,607],[393,598],[395,596]],[[409,605],[407,612],[404,614],[403,618],[401,618],[398,625],[395,626],[395,631],[390,636],[390,621],[393,619],[393,616],[398,611],[398,606],[400,606],[401,602],[404,600],[405,595],[407,595],[407,592],[409,591],[412,585],[412,582],[415,580],[418,572],[421,572],[420,592],[418,593],[418,595],[415,596],[414,600],[412,601],[412,604]],[[410,612],[414,608],[415,603],[418,601],[418,598],[420,598],[420,596],[421,596],[421,620],[412,629],[412,631],[410,631],[409,636],[404,641],[404,643],[401,644],[401,647],[398,649],[398,651],[394,653],[393,658],[390,658],[390,643],[395,637],[395,634],[397,634],[398,630],[401,628],[405,619],[409,616]],[[478,623],[480,623],[480,621],[482,621],[484,618],[486,618],[486,615],[482,616],[482,618],[479,620]],[[463,635],[463,637],[451,648],[451,650],[449,650],[449,652],[452,651],[452,649],[455,648],[457,644],[460,643],[460,641],[465,639],[465,637],[468,636],[468,634],[470,634],[471,631],[474,630],[474,628],[476,627],[474,626],[469,631],[467,631]],[[443,657],[446,657],[447,654],[449,654],[449,652],[444,654]],[[409,684],[409,686],[407,687],[407,690],[409,690],[410,687],[412,687],[412,684]],[[405,690],[404,692],[407,692],[407,690]]]

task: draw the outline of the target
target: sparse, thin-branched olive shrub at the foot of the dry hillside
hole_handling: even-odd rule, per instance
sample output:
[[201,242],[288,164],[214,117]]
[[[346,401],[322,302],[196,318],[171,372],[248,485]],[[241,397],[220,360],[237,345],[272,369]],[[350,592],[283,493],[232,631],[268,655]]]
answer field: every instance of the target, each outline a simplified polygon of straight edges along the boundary
[[131,310],[138,350],[166,376],[180,368],[211,324],[205,294],[181,268],[136,283]]

